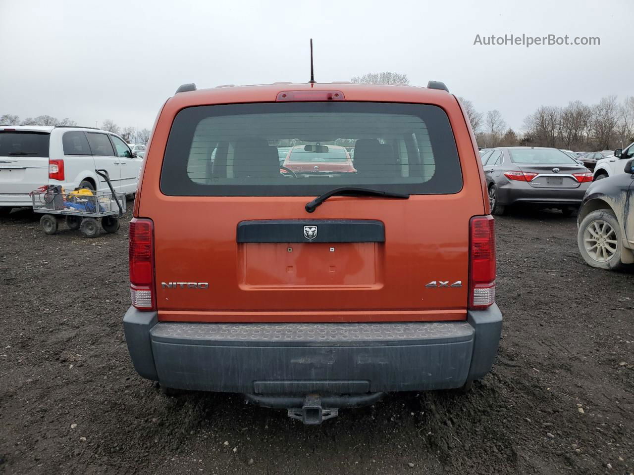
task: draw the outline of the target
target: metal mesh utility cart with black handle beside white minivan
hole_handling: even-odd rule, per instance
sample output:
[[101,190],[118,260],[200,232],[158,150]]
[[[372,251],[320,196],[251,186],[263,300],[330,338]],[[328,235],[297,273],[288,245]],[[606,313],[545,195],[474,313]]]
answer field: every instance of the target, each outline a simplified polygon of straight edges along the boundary
[[126,212],[126,194],[116,193],[107,170],[94,170],[105,179],[110,191],[92,191],[86,188],[64,191],[58,185],[46,185],[30,193],[33,211],[44,213],[40,219],[42,231],[55,234],[58,216],[65,216],[70,229],[79,229],[86,238],[99,234],[99,221],[105,232],[117,232],[119,218]]

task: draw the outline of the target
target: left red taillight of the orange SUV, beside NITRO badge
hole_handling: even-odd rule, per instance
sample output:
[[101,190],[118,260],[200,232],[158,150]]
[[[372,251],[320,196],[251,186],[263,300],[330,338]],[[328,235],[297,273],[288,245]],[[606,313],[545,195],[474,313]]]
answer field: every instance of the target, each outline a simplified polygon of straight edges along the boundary
[[139,310],[156,310],[154,287],[154,224],[149,219],[130,221],[130,296]]

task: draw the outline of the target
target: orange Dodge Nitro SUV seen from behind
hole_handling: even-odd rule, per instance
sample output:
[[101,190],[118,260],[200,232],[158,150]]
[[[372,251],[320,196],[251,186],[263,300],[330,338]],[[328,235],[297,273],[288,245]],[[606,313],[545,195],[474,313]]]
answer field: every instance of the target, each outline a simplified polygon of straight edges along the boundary
[[[289,147],[317,167],[353,147],[354,171],[285,170]],[[469,388],[501,331],[484,183],[441,82],[179,87],[129,230],[136,371],[306,424],[387,391]]]

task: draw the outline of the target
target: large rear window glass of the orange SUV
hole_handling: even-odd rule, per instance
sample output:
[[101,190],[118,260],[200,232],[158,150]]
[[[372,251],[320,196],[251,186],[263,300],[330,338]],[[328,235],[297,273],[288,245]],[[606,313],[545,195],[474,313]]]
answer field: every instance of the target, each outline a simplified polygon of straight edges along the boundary
[[[280,168],[280,149],[302,166]],[[323,162],[343,163],[324,170]],[[311,196],[340,186],[460,191],[446,113],[432,105],[354,102],[186,108],[172,124],[160,181],[172,196]]]

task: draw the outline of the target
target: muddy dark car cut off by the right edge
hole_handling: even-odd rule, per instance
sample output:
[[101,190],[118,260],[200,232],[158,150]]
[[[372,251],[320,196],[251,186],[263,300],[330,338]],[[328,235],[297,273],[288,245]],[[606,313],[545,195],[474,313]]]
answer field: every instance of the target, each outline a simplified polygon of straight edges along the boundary
[[577,244],[592,267],[634,263],[634,160],[624,171],[593,182],[579,209]]

